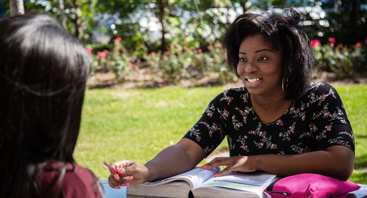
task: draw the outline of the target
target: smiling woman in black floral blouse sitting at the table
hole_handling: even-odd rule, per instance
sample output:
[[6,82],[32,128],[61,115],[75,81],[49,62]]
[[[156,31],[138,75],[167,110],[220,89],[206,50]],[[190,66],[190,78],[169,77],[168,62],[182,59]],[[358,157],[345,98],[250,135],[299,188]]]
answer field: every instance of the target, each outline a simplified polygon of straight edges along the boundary
[[214,158],[202,169],[227,166],[217,176],[266,171],[347,180],[353,172],[354,135],[336,90],[310,81],[313,57],[298,25],[301,18],[294,9],[284,16],[238,16],[224,45],[244,87],[212,99],[183,139],[145,165],[131,160],[113,163],[125,177],[111,172],[109,185],[120,188],[187,171],[226,136],[230,157]]

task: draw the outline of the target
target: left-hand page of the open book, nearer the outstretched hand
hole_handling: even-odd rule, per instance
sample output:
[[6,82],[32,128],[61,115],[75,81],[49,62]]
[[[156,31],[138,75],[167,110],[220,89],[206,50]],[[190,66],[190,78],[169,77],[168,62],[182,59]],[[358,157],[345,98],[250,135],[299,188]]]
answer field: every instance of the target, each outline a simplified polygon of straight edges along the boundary
[[162,185],[172,181],[184,180],[189,183],[190,189],[193,189],[193,187],[200,185],[201,183],[203,183],[204,181],[206,181],[219,171],[220,167],[216,167],[210,170],[203,170],[200,169],[199,167],[194,167],[193,169],[184,172],[182,174],[175,175],[167,179],[157,180],[153,182],[146,182],[142,185]]

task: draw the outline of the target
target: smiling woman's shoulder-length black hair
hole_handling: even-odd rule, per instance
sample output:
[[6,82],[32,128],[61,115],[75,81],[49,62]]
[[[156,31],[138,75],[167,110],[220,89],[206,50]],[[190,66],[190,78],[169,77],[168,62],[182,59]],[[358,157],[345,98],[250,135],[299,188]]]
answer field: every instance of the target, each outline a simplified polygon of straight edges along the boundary
[[273,49],[283,49],[283,84],[284,91],[289,93],[287,99],[297,99],[309,87],[314,59],[310,41],[299,25],[302,15],[293,8],[287,8],[285,14],[242,14],[231,24],[223,44],[227,49],[228,63],[234,68],[237,77],[240,77],[237,64],[242,41],[255,34],[269,38]]

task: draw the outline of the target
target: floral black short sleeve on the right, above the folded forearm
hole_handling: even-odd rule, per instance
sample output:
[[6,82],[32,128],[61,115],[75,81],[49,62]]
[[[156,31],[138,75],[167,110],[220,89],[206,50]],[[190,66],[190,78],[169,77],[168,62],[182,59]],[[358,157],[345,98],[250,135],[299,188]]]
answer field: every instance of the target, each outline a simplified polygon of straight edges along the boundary
[[341,145],[355,151],[354,135],[342,100],[336,90],[327,84],[315,88],[312,99],[315,109],[312,130],[319,150]]

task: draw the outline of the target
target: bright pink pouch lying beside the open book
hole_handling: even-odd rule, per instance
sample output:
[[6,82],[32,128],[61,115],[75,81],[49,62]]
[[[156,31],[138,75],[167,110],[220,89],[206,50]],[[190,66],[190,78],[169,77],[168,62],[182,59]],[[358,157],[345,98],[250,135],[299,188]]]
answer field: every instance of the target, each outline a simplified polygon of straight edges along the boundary
[[275,181],[264,192],[273,198],[330,198],[359,188],[350,181],[305,173]]

